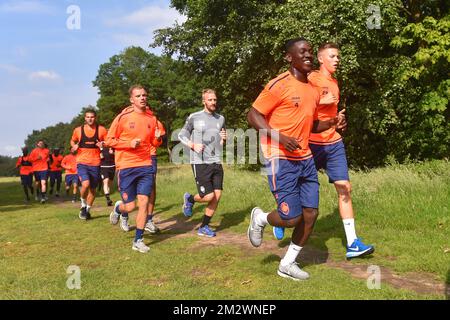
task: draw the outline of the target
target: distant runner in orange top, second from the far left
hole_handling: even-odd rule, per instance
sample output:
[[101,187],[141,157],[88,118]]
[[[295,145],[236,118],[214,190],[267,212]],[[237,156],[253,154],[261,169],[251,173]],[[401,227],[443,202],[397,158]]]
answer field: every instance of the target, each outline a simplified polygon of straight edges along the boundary
[[45,147],[44,141],[39,140],[36,144],[36,148],[31,151],[30,156],[28,157],[28,161],[33,165],[32,168],[36,180],[36,196],[40,194],[42,204],[47,200],[49,154],[50,151]]

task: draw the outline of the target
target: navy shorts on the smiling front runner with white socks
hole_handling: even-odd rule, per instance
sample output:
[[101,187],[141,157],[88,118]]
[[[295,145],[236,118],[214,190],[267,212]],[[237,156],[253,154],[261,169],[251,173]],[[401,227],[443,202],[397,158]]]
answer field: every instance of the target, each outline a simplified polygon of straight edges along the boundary
[[300,216],[303,208],[319,207],[319,180],[313,158],[273,159],[266,163],[266,169],[281,219],[291,220]]

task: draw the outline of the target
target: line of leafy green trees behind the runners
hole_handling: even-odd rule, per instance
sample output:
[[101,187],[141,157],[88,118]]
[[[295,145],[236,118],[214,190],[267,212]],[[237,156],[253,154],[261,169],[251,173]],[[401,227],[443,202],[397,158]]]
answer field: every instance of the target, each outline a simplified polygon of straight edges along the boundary
[[[227,127],[245,129],[254,99],[287,68],[285,41],[302,36],[315,48],[326,41],[340,46],[337,79],[352,167],[450,155],[447,1],[172,0],[172,6],[187,20],[155,32],[151,46],[162,46],[162,56],[130,47],[99,67],[93,85],[100,123],[109,126],[128,105],[128,88],[140,83],[169,137],[201,107],[204,87],[217,90]],[[83,112],[33,131],[25,144],[44,139],[67,150]]]

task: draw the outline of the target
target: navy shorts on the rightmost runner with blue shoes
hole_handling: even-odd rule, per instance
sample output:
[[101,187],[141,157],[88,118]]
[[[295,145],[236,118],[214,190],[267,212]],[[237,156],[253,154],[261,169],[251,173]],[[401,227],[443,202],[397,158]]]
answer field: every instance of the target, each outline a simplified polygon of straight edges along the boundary
[[310,143],[309,147],[314,155],[316,169],[325,169],[330,183],[350,180],[348,176],[347,156],[342,140],[329,145]]

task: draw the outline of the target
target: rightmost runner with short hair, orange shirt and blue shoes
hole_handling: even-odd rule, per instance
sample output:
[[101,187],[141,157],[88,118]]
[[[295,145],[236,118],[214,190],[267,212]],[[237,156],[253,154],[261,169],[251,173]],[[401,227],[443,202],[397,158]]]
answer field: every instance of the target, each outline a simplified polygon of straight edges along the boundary
[[[333,77],[339,67],[339,47],[334,43],[324,43],[319,47],[317,58],[320,70],[311,72],[309,82],[321,95],[318,107],[319,120],[328,120],[336,116],[339,103],[339,87]],[[362,257],[375,251],[372,245],[364,244],[356,236],[355,214],[351,198],[351,184],[348,174],[347,157],[341,135],[332,127],[321,133],[313,133],[309,138],[309,147],[314,156],[317,170],[325,169],[330,183],[334,184],[338,194],[339,214],[347,238],[348,259]]]

